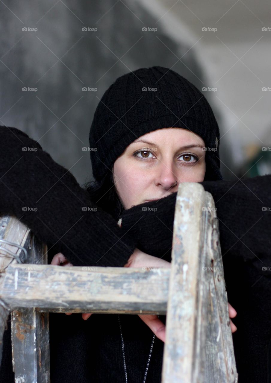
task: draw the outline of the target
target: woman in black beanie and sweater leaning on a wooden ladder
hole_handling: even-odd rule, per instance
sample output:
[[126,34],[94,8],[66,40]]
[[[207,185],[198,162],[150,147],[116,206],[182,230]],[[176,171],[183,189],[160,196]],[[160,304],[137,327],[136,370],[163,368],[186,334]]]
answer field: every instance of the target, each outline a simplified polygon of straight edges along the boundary
[[[135,142],[143,136],[151,146]],[[265,298],[266,313],[271,313],[269,278],[260,275],[259,264],[255,262],[268,261],[269,211],[258,221],[257,217],[259,203],[268,203],[266,187],[270,177],[235,183],[222,180],[217,122],[207,100],[194,85],[163,67],[141,68],[117,79],[97,106],[90,129],[90,147],[95,148],[90,151],[95,183],[87,191],[79,187],[67,169],[57,165],[39,144],[18,129],[3,127],[0,138],[0,142],[5,142],[0,149],[8,147],[8,163],[0,162],[0,210],[21,218],[22,203],[37,207],[37,214],[26,211],[21,221],[48,244],[49,262],[56,253],[63,254],[73,265],[137,267],[139,261],[153,265],[153,257],[161,258],[155,259],[156,266],[158,262],[170,262],[179,182],[200,182],[210,191],[220,219],[228,299],[237,309],[236,320],[241,317],[238,331],[233,334],[234,337],[241,333],[234,344],[239,381],[267,381],[271,337],[267,324],[271,316],[261,315],[260,325],[256,326],[257,305],[263,299],[259,300],[251,291],[249,295],[244,286],[259,275],[255,286]],[[37,151],[35,154],[25,151],[22,155],[22,145],[35,147]],[[195,145],[206,150],[199,151]],[[20,195],[20,199],[13,193],[7,196],[7,188]],[[247,190],[253,192],[248,194]],[[156,201],[146,202],[150,199]],[[85,206],[95,206],[97,210],[83,209]],[[142,210],[145,206],[156,206],[157,210]],[[235,209],[231,209],[233,206]],[[119,218],[121,227],[117,224]],[[243,228],[249,231],[251,218],[252,223],[255,218],[257,225],[245,236]],[[238,285],[238,281],[243,284]],[[249,312],[244,296],[254,299],[247,304]],[[129,382],[143,381],[145,377],[146,382],[160,381],[163,334],[158,330],[165,316],[147,317],[150,328],[141,321],[143,318],[133,315],[95,314],[89,321],[79,322],[76,314],[65,318],[50,313],[51,381],[124,382],[124,361]],[[251,327],[253,331],[248,332]],[[153,331],[160,339],[154,340],[148,364]],[[4,343],[7,339],[6,336]],[[248,350],[242,349],[244,345],[248,345]],[[6,355],[8,351],[3,356],[8,363]]]

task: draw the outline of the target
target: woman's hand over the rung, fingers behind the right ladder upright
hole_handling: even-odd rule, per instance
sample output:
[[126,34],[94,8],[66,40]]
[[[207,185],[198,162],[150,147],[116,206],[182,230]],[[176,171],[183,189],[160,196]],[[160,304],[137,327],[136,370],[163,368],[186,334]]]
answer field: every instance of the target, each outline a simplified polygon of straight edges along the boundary
[[[149,255],[144,253],[139,249],[135,249],[133,254],[128,259],[128,262],[124,265],[124,267],[171,267],[171,263],[165,261],[164,259],[159,259],[157,257],[153,257],[153,255]],[[228,310],[230,318],[234,318],[237,315],[235,309],[228,303]],[[140,319],[146,323],[146,325],[154,332],[154,334],[163,342],[166,339],[166,326],[157,315],[146,315],[146,314],[138,314]],[[237,330],[235,324],[233,324],[230,319],[230,326],[232,332]]]

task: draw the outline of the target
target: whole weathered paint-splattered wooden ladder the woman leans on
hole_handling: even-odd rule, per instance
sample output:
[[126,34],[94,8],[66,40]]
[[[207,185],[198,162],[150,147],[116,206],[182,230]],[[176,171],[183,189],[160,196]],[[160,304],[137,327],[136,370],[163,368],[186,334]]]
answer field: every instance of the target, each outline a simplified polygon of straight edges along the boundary
[[47,246],[0,216],[0,339],[11,313],[15,382],[50,381],[49,312],[69,311],[166,315],[162,383],[236,383],[215,210],[202,185],[181,183],[171,268],[146,270],[48,265]]

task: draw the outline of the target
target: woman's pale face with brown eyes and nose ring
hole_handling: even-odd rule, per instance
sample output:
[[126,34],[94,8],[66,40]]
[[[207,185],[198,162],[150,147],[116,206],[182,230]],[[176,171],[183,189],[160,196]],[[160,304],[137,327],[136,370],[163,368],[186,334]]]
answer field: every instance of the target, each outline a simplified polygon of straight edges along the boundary
[[174,193],[180,182],[202,182],[204,146],[200,136],[183,128],[158,129],[135,139],[113,166],[125,210]]

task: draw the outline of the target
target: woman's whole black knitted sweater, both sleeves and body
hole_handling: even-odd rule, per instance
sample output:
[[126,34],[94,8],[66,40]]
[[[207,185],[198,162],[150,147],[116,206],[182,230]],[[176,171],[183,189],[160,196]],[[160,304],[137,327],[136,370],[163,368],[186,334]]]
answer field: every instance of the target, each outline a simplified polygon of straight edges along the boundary
[[[148,206],[155,206],[156,211],[142,210],[146,204],[125,210],[119,228],[110,214],[90,200],[74,176],[27,134],[0,126],[0,150],[0,211],[18,217],[48,244],[48,263],[62,252],[76,266],[122,267],[136,247],[171,261],[177,193],[150,202]],[[228,301],[237,310],[233,344],[238,381],[267,382],[271,175],[201,184],[212,193],[217,207]],[[52,383],[125,382],[115,314],[92,314],[87,321],[81,314],[49,316]],[[143,381],[153,333],[136,315],[120,318],[128,381]],[[166,316],[161,320],[165,322]],[[163,345],[155,339],[146,383],[161,380]],[[0,381],[11,382],[12,378],[8,322]]]

